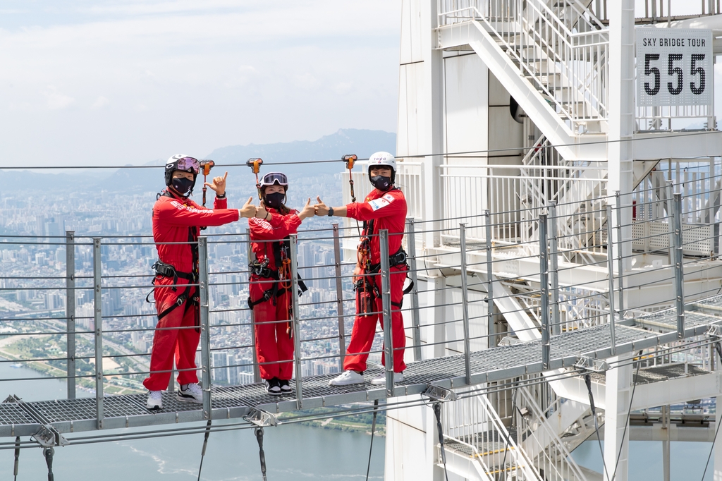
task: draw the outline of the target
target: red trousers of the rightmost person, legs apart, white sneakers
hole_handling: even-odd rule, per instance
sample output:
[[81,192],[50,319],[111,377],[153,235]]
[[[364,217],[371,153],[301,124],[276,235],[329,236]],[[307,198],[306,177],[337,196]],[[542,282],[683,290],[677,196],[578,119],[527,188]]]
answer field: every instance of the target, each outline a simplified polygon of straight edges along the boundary
[[[391,302],[399,304],[404,298],[404,281],[406,280],[406,266],[391,268]],[[381,276],[375,275],[373,282],[381,292]],[[356,311],[359,312],[358,295],[356,296]],[[356,316],[354,328],[351,332],[351,342],[346,350],[344,358],[345,371],[366,371],[367,352],[373,345],[373,337],[376,332],[376,324],[383,329],[383,302],[380,297],[375,300],[375,311],[378,314],[370,316]],[[393,337],[393,372],[401,373],[406,369],[404,363],[404,347],[406,346],[406,334],[404,333],[404,318],[401,317],[401,310],[397,306],[391,306],[391,335]],[[363,354],[366,352],[366,354]],[[381,364],[386,365],[385,353],[381,355]]]

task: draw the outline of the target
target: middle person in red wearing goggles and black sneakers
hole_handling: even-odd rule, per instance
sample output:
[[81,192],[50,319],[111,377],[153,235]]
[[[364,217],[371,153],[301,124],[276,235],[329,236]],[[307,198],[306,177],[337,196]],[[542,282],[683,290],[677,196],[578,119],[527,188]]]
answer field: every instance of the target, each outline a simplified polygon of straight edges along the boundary
[[[268,394],[290,394],[293,373],[292,298],[290,253],[287,238],[301,221],[313,217],[310,199],[301,212],[285,206],[288,178],[270,172],[261,180],[261,207],[248,220],[251,248],[256,260],[251,267],[248,306],[253,309],[256,357]],[[262,218],[259,218],[262,217]],[[300,282],[305,290],[305,285]],[[300,375],[300,374],[297,374]]]

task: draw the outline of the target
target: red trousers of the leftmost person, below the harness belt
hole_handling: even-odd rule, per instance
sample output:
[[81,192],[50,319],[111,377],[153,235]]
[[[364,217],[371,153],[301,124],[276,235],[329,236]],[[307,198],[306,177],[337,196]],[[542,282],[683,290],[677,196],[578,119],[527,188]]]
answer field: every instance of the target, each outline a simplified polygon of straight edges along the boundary
[[[178,296],[185,292],[188,281],[178,279],[178,287],[173,291],[170,287],[159,287],[173,285],[172,277],[156,276],[155,277],[155,308],[158,313],[165,311],[166,308],[175,303]],[[196,295],[196,288],[191,287],[191,296]],[[170,311],[163,316],[156,326],[153,336],[153,350],[150,355],[150,376],[143,381],[143,386],[149,391],[163,391],[168,389],[170,383],[170,371],[173,369],[173,355],[175,355],[175,367],[180,371],[178,373],[178,384],[197,383],[198,376],[196,374],[196,349],[201,339],[200,332],[196,329],[162,329],[162,328],[178,328],[190,327],[196,325],[196,311],[198,306],[189,305],[189,298],[182,306]],[[188,310],[186,310],[188,307]],[[158,330],[162,329],[162,330]],[[187,369],[188,371],[182,371]],[[154,372],[166,371],[166,372]]]

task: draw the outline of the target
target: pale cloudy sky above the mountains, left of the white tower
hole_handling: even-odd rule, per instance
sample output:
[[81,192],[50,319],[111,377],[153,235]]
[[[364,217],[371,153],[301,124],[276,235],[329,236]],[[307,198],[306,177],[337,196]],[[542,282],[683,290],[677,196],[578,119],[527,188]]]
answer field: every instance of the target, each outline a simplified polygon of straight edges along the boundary
[[396,131],[401,2],[3,0],[0,155],[125,165]]

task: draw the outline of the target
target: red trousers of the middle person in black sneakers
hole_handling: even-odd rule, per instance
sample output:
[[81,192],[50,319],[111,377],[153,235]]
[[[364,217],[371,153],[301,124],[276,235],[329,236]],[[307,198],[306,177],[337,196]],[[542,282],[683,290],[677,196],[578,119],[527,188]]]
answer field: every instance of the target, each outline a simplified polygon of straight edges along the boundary
[[[273,288],[273,282],[251,276],[251,300],[264,297],[264,291]],[[261,281],[261,282],[259,282]],[[274,303],[275,300],[275,303]],[[261,378],[290,379],[293,373],[293,339],[287,334],[289,324],[290,292],[253,306],[253,324],[256,327],[256,356]],[[277,361],[288,361],[279,363]]]

